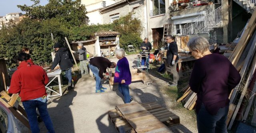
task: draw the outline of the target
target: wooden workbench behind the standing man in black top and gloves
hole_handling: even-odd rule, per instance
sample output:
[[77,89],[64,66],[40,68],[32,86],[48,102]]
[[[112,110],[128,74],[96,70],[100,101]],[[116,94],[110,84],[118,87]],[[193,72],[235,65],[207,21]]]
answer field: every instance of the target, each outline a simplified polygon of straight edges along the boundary
[[[163,60],[164,60],[164,64],[166,64],[167,57],[163,57]],[[196,60],[194,57],[182,57],[182,56],[179,56],[178,67],[179,67],[179,76],[180,77],[183,76],[182,75],[182,63],[183,62],[187,62],[187,61],[194,61],[194,60]],[[166,69],[167,72],[171,72],[170,67],[165,67],[165,69]]]

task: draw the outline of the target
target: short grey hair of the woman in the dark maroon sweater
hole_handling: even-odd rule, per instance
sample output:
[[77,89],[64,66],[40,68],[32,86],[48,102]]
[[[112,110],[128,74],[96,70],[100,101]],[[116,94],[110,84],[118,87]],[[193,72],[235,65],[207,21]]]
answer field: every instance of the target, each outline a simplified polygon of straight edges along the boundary
[[198,36],[193,37],[190,39],[187,43],[188,48],[191,50],[198,50],[201,53],[204,53],[205,51],[209,50],[209,42],[205,37]]

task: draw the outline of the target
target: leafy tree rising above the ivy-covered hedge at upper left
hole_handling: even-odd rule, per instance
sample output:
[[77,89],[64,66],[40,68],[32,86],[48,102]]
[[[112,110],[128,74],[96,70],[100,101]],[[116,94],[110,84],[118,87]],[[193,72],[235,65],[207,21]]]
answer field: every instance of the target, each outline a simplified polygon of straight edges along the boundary
[[26,16],[37,20],[50,20],[55,18],[63,22],[68,27],[88,23],[86,8],[81,4],[81,0],[49,0],[45,6],[38,5],[40,0],[31,0],[32,6],[26,4],[18,5]]

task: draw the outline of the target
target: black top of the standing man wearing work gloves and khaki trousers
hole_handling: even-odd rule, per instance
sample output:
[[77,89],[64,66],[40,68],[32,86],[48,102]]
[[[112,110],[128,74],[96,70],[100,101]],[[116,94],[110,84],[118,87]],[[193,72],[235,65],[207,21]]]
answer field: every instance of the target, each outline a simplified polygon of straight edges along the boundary
[[[168,46],[168,44],[167,44]],[[167,57],[167,64],[170,65],[172,63],[173,55],[177,55],[175,62],[179,60],[178,56],[178,46],[175,41],[171,42],[169,44],[169,47],[167,49],[166,57]]]

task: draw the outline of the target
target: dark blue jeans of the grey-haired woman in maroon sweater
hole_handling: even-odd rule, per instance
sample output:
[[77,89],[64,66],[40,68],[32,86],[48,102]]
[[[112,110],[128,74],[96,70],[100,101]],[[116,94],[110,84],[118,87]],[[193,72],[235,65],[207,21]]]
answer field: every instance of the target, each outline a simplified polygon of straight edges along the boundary
[[196,115],[198,133],[228,133],[227,115],[228,106],[220,108],[216,115],[211,115],[202,104]]

